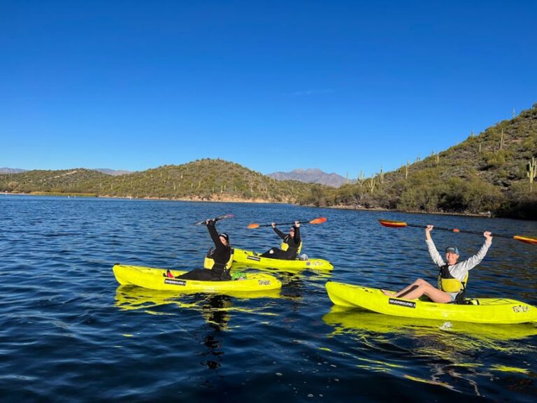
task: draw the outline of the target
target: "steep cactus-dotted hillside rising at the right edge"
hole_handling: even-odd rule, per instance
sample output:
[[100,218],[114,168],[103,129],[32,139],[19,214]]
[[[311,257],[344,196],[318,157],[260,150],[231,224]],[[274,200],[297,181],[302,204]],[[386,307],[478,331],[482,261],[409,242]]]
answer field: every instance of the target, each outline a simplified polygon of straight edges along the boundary
[[[317,206],[475,213],[537,219],[537,104],[457,146],[355,185],[317,189]],[[534,158],[534,159],[533,159]],[[533,160],[532,160],[533,159]],[[533,174],[532,174],[533,172]],[[537,178],[536,178],[537,179]]]

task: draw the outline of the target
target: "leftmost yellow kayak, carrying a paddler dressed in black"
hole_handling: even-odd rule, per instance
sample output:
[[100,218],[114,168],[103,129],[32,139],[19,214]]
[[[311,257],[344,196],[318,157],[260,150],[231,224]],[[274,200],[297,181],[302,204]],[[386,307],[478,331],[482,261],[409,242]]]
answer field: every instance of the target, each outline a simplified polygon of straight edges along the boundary
[[[180,293],[211,292],[217,294],[234,294],[235,292],[258,292],[279,290],[282,283],[265,273],[244,274],[245,278],[231,281],[199,281],[166,277],[166,269],[115,264],[113,272],[118,283],[138,285],[152,290],[167,290]],[[171,270],[173,276],[180,276],[186,271]]]

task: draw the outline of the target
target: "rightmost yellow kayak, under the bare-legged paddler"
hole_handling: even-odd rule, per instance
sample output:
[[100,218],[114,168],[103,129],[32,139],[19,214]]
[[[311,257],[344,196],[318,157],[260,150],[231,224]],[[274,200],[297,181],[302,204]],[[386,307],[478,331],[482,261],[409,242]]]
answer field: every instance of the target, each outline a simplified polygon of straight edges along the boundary
[[474,298],[470,304],[437,304],[421,299],[384,295],[378,288],[327,282],[327,292],[336,305],[357,307],[406,318],[458,320],[472,323],[537,322],[537,308],[515,299]]

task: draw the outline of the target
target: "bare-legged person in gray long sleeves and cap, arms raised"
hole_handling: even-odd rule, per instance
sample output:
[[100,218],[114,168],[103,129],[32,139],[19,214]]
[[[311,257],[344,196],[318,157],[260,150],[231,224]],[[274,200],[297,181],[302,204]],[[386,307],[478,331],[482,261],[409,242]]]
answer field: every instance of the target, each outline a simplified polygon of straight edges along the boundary
[[485,236],[485,243],[483,243],[483,246],[478,253],[463,262],[459,262],[459,250],[456,247],[450,246],[449,248],[446,248],[446,262],[444,262],[431,238],[431,230],[433,228],[434,225],[427,225],[427,229],[425,229],[425,239],[431,259],[441,268],[438,273],[438,288],[422,278],[418,278],[414,283],[408,285],[408,287],[403,288],[403,290],[399,292],[392,293],[382,290],[385,295],[397,298],[404,297],[404,299],[417,299],[422,295],[427,295],[431,301],[439,303],[459,302],[459,299],[464,299],[468,271],[477,266],[487,254],[492,243],[492,234],[485,231],[483,233],[483,236]]

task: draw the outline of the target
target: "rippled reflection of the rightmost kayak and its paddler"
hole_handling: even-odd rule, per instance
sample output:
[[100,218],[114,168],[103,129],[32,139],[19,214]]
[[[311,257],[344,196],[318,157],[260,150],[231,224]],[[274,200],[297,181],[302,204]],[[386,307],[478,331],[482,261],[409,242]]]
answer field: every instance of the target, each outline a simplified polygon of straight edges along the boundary
[[[411,381],[452,390],[466,388],[480,396],[478,381],[494,378],[493,372],[527,375],[524,358],[537,351],[534,324],[487,325],[387,316],[333,306],[322,320],[334,328],[329,337],[359,341],[357,366],[373,372],[389,372]],[[483,351],[503,358],[501,369],[489,365]],[[367,354],[364,351],[368,351]],[[375,360],[367,355],[374,353]],[[383,359],[382,359],[383,358]],[[512,365],[508,365],[512,364]],[[429,378],[420,367],[427,367]]]

